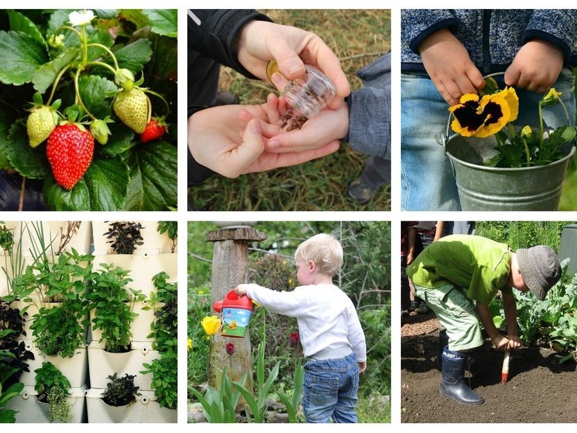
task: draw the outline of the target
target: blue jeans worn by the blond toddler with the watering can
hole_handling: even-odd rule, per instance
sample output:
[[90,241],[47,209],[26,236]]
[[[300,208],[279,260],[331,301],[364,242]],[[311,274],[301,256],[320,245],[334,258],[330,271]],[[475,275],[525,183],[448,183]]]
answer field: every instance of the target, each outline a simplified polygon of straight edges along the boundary
[[307,423],[357,423],[358,364],[353,353],[334,360],[309,360],[302,383]]

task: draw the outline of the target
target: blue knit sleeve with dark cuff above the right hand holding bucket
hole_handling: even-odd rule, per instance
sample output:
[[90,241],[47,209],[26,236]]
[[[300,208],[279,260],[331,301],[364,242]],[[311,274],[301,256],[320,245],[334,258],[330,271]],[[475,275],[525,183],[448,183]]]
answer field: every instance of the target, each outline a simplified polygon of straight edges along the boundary
[[577,10],[535,9],[523,34],[523,43],[531,39],[552,43],[568,62],[577,43]]

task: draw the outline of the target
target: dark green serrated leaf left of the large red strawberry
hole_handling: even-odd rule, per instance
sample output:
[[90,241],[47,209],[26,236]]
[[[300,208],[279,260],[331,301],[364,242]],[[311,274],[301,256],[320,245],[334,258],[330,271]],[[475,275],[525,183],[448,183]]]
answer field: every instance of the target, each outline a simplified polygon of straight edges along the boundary
[[44,145],[36,148],[28,144],[26,120],[19,119],[10,128],[6,142],[8,161],[22,176],[31,179],[42,179],[50,173]]

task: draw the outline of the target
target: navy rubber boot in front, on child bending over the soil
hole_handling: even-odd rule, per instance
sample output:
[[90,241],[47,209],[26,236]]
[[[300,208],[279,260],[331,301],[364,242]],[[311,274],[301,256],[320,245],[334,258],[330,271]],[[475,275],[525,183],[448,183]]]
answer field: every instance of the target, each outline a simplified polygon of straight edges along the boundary
[[469,358],[464,353],[443,349],[442,379],[439,393],[457,400],[461,404],[481,404],[485,402],[476,392],[465,385],[465,364]]

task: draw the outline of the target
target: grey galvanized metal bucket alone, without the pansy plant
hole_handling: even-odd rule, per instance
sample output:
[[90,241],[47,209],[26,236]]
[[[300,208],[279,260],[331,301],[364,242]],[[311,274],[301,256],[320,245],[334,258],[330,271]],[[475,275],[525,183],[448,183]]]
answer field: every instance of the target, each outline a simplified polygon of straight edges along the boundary
[[[492,74],[497,75],[497,74]],[[561,102],[561,101],[560,101]],[[562,107],[565,109],[564,105]],[[569,115],[567,110],[567,123]],[[497,141],[488,138],[449,138],[449,115],[446,135],[439,140],[451,159],[453,175],[462,210],[558,210],[562,186],[575,145],[562,149],[563,159],[547,166],[495,168],[483,166],[483,161],[496,154]]]

